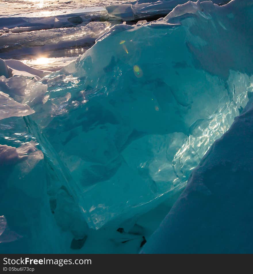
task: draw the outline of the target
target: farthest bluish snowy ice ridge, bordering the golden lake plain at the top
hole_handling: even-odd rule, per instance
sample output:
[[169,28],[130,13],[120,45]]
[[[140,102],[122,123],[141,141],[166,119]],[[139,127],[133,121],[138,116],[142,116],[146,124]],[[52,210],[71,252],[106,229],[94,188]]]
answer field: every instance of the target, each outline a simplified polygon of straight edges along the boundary
[[[200,2],[203,1],[204,0],[201,0]],[[0,30],[7,27],[9,29],[8,31],[21,32],[51,29],[54,27],[70,27],[76,25],[75,22],[73,23],[71,22],[72,20],[70,20],[70,18],[73,17],[79,17],[83,22],[95,20],[131,21],[138,18],[144,20],[152,16],[165,16],[173,10],[174,7],[186,2],[187,0],[144,0],[131,3],[111,4],[106,5],[106,7],[85,7],[79,9],[61,9],[3,15],[0,16]],[[218,4],[223,1],[214,0],[213,2]]]

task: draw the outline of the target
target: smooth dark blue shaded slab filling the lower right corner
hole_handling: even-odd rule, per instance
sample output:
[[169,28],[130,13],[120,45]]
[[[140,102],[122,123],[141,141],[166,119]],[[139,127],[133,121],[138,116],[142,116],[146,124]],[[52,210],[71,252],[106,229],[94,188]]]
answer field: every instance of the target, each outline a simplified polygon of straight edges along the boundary
[[143,253],[252,253],[252,99],[193,171]]

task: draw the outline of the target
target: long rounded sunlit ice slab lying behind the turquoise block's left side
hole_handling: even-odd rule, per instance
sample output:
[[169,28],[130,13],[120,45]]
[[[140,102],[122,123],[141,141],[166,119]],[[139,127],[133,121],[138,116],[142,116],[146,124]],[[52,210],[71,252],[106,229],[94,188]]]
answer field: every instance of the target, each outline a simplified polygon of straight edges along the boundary
[[5,33],[0,39],[0,52],[5,58],[43,54],[78,46],[91,46],[109,27],[109,22],[89,22],[85,26]]

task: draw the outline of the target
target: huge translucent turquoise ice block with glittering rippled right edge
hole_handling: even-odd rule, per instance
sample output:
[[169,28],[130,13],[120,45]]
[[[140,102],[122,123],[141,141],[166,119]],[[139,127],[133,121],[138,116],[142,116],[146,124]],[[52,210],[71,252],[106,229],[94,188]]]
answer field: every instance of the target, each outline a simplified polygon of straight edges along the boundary
[[238,1],[188,2],[158,21],[116,25],[36,85],[34,94],[40,85],[47,92],[36,104],[26,100],[36,111],[26,123],[68,174],[90,227],[181,189],[246,105],[247,3],[245,12]]

